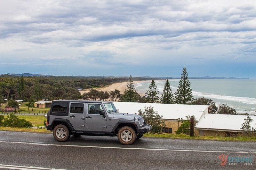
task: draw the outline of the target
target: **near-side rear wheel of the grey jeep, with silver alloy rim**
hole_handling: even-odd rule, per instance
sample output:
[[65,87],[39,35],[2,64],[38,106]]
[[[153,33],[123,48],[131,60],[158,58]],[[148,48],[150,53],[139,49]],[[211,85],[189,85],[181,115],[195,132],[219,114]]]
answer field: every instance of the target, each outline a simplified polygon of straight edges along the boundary
[[53,129],[53,137],[59,142],[65,142],[70,137],[67,126],[59,124]]

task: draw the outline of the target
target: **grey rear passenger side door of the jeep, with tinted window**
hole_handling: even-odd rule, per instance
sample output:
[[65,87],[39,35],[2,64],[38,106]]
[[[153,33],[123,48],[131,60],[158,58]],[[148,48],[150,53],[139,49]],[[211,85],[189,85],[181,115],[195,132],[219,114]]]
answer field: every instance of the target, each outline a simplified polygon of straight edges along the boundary
[[70,102],[68,120],[75,130],[84,129],[85,103]]

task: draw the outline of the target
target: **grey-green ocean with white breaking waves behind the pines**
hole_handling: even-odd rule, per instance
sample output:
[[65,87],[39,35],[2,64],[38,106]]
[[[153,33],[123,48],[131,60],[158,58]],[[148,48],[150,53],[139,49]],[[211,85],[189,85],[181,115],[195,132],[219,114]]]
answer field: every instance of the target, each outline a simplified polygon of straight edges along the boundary
[[[179,79],[169,80],[172,92],[176,92]],[[194,98],[209,98],[216,102],[227,104],[236,109],[237,113],[255,114],[256,80],[255,79],[189,79]],[[134,83],[136,91],[145,93],[151,82]],[[156,81],[160,96],[165,80]]]

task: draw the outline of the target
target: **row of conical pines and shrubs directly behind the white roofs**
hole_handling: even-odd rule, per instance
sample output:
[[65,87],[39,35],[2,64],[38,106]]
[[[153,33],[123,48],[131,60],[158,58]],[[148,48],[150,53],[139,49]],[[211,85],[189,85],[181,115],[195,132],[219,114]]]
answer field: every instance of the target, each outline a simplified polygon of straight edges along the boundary
[[[163,92],[160,94],[157,91],[157,86],[154,80],[149,85],[149,90],[146,95],[141,97],[135,90],[132,76],[130,76],[126,85],[126,90],[123,95],[120,95],[120,101],[124,102],[148,102],[148,103],[165,103],[165,104],[193,104],[193,105],[210,105],[212,106],[210,113],[212,114],[228,114],[236,115],[236,109],[229,107],[227,104],[221,104],[218,107],[215,102],[207,98],[194,98],[192,95],[191,84],[188,80],[188,71],[186,66],[183,67],[180,76],[179,86],[175,93],[172,92],[171,85],[167,79],[164,85]],[[243,115],[248,115],[244,113]]]

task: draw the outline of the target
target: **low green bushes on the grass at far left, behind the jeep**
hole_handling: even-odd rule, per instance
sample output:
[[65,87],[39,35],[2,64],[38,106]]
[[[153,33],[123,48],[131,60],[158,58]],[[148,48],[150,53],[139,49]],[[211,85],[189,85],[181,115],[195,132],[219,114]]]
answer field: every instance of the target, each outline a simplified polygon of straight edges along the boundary
[[[1,117],[0,117],[1,123]],[[12,127],[12,128],[31,128],[32,123],[26,121],[25,119],[19,119],[16,115],[7,115],[7,118],[2,120],[2,126]]]

